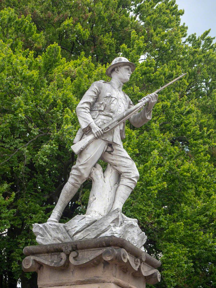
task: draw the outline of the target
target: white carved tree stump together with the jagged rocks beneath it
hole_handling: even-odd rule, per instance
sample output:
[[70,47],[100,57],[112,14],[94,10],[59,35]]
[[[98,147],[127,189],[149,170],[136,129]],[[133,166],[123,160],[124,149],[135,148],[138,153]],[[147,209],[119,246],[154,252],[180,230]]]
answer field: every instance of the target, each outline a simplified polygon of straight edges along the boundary
[[76,215],[65,224],[54,222],[33,224],[36,241],[43,245],[115,236],[124,238],[143,249],[147,237],[138,224],[128,221],[120,208],[109,212],[119,182],[118,171],[108,164],[103,173],[101,166],[96,164],[92,168],[90,177],[92,190],[86,214]]

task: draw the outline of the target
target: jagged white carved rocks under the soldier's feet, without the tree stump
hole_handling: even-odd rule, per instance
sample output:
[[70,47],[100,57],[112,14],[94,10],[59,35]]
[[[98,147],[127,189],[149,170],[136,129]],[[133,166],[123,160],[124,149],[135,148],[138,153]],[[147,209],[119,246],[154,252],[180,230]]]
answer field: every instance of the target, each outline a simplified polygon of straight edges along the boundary
[[71,242],[101,237],[118,237],[144,251],[147,236],[134,221],[124,221],[120,209],[98,219],[94,215],[76,215],[69,222],[33,224],[36,241],[41,244]]

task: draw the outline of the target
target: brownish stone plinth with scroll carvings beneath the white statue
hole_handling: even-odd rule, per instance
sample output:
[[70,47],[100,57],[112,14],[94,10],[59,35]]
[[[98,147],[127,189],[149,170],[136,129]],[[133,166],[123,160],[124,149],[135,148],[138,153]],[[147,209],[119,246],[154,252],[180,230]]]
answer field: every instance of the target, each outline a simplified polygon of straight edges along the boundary
[[25,272],[38,273],[38,287],[145,288],[160,281],[161,263],[117,237],[25,247]]

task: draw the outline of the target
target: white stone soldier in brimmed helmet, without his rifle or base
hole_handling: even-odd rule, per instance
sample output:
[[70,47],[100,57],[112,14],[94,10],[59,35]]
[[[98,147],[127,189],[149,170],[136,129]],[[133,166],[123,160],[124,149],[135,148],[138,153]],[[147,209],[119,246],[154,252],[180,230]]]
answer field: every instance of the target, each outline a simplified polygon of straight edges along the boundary
[[[128,82],[134,70],[135,65],[128,59],[115,58],[106,70],[106,75],[112,78],[111,81],[94,82],[77,105],[76,113],[81,128],[77,132],[74,143],[89,133],[93,133],[97,139],[78,154],[76,164],[71,169],[68,182],[63,187],[48,222],[59,221],[65,207],[80,185],[88,179],[92,168],[99,159],[110,163],[120,174],[119,185],[110,212],[117,208],[122,209],[124,202],[137,184],[139,172],[122,145],[122,139],[125,138],[125,123],[104,134],[100,129],[101,124],[133,106],[128,95],[122,91],[122,86]],[[151,110],[157,102],[158,95],[150,94],[146,98],[149,98],[148,105],[129,119],[135,127],[141,127],[151,120]],[[124,216],[124,220],[132,219]]]

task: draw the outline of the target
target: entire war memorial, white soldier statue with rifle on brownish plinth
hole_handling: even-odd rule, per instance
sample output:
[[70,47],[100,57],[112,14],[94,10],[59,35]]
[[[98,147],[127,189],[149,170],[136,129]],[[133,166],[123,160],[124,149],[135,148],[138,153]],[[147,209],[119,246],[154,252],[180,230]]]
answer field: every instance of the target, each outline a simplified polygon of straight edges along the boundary
[[[50,218],[33,224],[39,245],[24,248],[22,269],[37,272],[39,288],[144,288],[146,283],[160,282],[157,268],[161,262],[143,247],[147,236],[137,219],[122,213],[139,179],[122,139],[125,121],[135,127],[150,121],[156,93],[185,74],[134,106],[122,86],[135,68],[128,59],[115,58],[106,70],[111,81],[94,82],[76,108],[80,129],[71,146],[78,155],[76,164]],[[99,159],[108,164],[104,173]],[[92,189],[86,214],[59,223],[65,207],[89,177]]]

